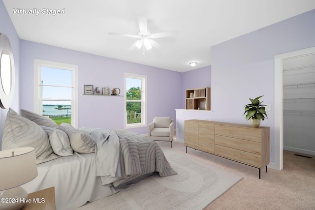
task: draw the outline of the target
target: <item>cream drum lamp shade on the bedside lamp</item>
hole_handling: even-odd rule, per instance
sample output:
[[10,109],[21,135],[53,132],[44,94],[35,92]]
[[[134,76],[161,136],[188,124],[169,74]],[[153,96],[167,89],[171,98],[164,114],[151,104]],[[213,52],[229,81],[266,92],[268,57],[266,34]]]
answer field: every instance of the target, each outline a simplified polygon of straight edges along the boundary
[[0,151],[0,190],[20,186],[37,177],[34,148]]

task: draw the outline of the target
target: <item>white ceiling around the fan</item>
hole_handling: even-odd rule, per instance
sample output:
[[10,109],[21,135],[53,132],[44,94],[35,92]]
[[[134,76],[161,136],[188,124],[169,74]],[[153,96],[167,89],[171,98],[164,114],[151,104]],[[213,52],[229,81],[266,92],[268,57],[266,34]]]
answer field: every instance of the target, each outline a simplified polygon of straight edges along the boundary
[[[211,46],[315,9],[315,0],[3,0],[21,39],[185,72],[211,65]],[[13,9],[63,9],[64,14],[14,14]],[[128,51],[137,39],[137,16],[163,50]],[[195,67],[189,62],[196,61]]]

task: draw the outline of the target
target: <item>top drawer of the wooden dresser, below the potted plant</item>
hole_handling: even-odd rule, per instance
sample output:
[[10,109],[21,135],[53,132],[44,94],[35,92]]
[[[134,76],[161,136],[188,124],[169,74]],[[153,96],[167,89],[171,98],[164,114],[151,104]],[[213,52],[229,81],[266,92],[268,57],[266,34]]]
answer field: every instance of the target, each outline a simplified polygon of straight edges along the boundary
[[254,142],[261,142],[261,130],[233,126],[216,125],[215,134],[229,136],[238,139],[245,139]]

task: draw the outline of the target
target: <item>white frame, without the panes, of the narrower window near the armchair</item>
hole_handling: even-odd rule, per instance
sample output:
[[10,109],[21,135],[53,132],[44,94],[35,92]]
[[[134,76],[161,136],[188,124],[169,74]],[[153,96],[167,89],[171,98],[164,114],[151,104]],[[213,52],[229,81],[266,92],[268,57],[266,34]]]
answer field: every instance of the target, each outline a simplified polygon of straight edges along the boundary
[[[141,123],[133,123],[127,124],[127,106],[126,103],[129,101],[126,99],[126,79],[133,78],[133,79],[141,79]],[[124,128],[138,128],[138,127],[146,127],[147,126],[147,76],[140,75],[140,74],[132,74],[125,72],[124,74]]]

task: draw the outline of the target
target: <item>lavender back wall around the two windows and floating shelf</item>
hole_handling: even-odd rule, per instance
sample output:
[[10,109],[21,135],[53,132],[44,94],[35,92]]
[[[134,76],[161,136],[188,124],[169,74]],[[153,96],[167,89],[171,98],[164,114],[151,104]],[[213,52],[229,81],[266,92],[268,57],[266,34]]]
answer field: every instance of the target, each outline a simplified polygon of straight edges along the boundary
[[[33,110],[33,59],[78,65],[79,127],[124,128],[124,97],[81,96],[83,85],[124,89],[124,72],[147,75],[147,120],[181,106],[181,73],[21,40],[21,108]],[[81,89],[82,88],[82,89]],[[125,95],[122,93],[122,95]],[[147,127],[130,129],[147,133]]]

